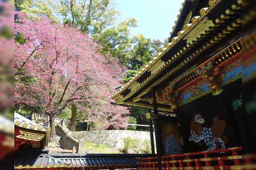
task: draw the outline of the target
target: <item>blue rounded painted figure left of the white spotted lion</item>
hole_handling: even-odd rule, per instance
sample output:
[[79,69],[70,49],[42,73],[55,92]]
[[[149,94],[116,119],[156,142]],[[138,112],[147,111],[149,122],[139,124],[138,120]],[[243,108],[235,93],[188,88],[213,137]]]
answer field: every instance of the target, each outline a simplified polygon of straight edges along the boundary
[[167,155],[181,154],[181,146],[177,139],[173,137],[172,132],[170,133],[170,136],[166,137],[166,153]]

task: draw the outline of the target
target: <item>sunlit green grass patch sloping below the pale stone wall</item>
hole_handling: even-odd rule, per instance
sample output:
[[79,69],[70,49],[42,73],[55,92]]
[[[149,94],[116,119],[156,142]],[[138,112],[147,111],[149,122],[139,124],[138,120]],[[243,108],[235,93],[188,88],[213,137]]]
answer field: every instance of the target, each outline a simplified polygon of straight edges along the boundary
[[111,148],[105,144],[97,144],[90,141],[85,141],[84,146],[85,153],[120,153],[118,149]]

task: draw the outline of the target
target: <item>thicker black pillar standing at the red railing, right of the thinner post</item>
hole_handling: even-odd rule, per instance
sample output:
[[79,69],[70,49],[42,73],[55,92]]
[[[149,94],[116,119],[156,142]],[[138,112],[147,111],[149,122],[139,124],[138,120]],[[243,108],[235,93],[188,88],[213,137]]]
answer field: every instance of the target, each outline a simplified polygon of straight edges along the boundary
[[[153,97],[154,114],[158,115],[157,103],[156,103],[156,92],[154,88],[152,88],[152,97]],[[155,137],[156,137],[157,167],[158,167],[158,170],[161,170],[162,169],[161,156],[163,156],[165,152],[163,151],[162,129],[161,129],[161,124],[159,119],[154,119],[154,126],[155,126]]]

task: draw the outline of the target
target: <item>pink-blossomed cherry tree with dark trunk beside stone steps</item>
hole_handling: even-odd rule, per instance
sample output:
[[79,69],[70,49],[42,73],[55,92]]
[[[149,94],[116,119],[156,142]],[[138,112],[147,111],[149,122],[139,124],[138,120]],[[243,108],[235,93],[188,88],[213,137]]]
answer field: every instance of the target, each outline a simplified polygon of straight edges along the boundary
[[[42,106],[49,116],[53,141],[56,115],[71,101],[109,103],[122,68],[111,56],[106,60],[88,34],[67,24],[16,14],[15,36],[25,43],[15,42],[15,104]],[[105,106],[102,110],[114,107]],[[123,123],[129,112],[114,113],[116,110],[104,114]]]

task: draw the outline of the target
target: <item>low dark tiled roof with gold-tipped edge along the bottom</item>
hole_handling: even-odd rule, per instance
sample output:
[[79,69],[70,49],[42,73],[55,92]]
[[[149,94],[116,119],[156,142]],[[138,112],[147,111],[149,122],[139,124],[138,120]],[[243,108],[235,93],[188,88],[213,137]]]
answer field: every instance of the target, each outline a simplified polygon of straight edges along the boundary
[[57,168],[57,167],[101,167],[134,168],[140,160],[136,157],[150,157],[151,154],[48,154],[48,150],[16,151],[14,169]]

